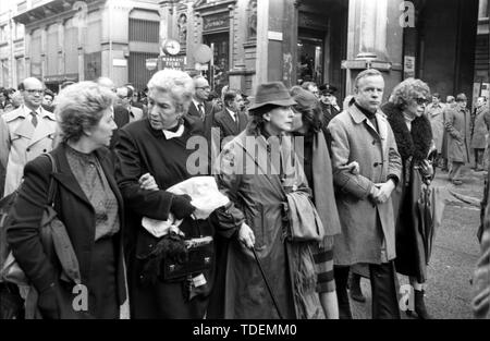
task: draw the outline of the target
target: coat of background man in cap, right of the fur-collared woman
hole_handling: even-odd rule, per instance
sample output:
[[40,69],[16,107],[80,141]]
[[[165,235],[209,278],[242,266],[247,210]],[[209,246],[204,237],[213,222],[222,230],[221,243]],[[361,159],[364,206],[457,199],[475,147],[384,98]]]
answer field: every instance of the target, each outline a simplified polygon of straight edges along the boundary
[[445,112],[448,158],[454,162],[469,162],[470,115],[467,109],[450,108]]

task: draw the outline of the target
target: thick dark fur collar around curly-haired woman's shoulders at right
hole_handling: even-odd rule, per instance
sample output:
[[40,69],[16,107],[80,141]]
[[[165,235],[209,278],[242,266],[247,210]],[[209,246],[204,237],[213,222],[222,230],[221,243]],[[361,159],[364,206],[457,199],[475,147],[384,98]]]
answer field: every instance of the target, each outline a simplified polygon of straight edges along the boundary
[[412,131],[408,131],[400,108],[388,102],[381,107],[381,110],[390,122],[402,160],[405,161],[411,156],[415,161],[426,159],[432,145],[432,129],[429,119],[425,115],[416,118],[412,121]]

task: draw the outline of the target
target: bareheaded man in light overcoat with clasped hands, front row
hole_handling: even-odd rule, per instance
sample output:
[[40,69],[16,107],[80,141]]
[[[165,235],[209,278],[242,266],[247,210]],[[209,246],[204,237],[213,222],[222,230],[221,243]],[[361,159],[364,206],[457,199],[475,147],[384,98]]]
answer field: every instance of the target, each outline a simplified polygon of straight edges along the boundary
[[[379,110],[381,73],[370,69],[354,81],[355,103],[330,121],[335,199],[342,233],[335,238],[334,277],[341,318],[352,318],[347,295],[350,267],[369,266],[372,318],[400,318],[395,271],[395,231],[391,193],[401,179],[393,132]],[[344,166],[357,161],[359,172]]]

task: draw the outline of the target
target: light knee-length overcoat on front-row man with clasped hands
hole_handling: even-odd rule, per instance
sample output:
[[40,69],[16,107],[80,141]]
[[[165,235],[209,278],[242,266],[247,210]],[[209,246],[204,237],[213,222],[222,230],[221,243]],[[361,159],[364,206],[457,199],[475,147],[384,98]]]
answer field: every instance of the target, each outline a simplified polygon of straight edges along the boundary
[[[400,180],[402,163],[393,132],[381,111],[376,113],[376,120],[379,133],[356,106],[351,106],[328,126],[342,226],[333,247],[335,265],[385,261],[381,256],[383,240],[388,260],[396,256],[392,202],[373,204],[369,193],[376,183],[387,182],[391,176]],[[353,161],[359,163],[359,174],[340,169]]]

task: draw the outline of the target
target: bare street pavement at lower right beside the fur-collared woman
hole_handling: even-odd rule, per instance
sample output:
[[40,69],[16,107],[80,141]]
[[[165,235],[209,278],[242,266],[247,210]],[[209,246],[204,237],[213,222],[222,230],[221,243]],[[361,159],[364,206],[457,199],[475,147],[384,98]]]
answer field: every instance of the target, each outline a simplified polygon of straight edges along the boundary
[[[429,313],[438,319],[473,318],[470,301],[474,266],[479,255],[476,231],[479,224],[479,208],[462,202],[461,197],[480,200],[483,193],[485,173],[465,169],[465,181],[461,186],[452,185],[448,173],[440,172],[433,182],[443,188],[446,206],[442,224],[437,231],[432,257],[428,268],[426,305]],[[401,284],[407,283],[399,276]],[[363,292],[367,297],[364,304],[352,302],[354,318],[371,317],[371,294],[369,280],[362,280]],[[402,318],[408,318],[402,313]]]

